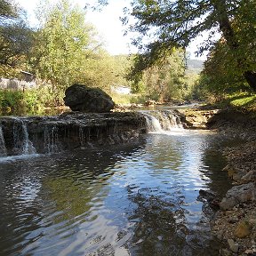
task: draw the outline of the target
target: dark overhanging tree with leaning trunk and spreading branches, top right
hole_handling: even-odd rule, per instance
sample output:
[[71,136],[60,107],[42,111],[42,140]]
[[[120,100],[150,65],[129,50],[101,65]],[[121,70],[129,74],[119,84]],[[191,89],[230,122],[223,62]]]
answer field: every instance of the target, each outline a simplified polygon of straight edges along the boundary
[[[215,41],[214,34],[220,32],[230,51],[235,52],[236,67],[256,92],[256,71],[252,69],[250,52],[243,50],[250,48],[249,45],[255,47],[255,0],[132,0],[131,5],[132,10],[126,10],[127,15],[135,18],[130,28],[140,33],[133,44],[138,45],[142,52],[137,67],[148,68],[173,46],[185,48],[204,31],[210,33],[200,51],[209,50]],[[124,17],[124,23],[128,22],[127,17]],[[234,20],[242,21],[236,26],[239,31],[248,32],[247,42],[239,38]],[[149,43],[145,43],[143,37],[148,37]]]

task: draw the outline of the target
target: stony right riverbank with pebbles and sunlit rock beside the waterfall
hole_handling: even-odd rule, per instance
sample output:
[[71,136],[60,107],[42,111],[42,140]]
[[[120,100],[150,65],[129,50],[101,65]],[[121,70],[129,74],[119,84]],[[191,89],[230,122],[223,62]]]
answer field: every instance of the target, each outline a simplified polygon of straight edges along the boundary
[[234,187],[220,202],[212,234],[224,243],[220,255],[256,255],[256,119],[254,112],[234,109],[189,109],[182,112],[189,128],[210,129],[237,138],[239,147],[225,148]]

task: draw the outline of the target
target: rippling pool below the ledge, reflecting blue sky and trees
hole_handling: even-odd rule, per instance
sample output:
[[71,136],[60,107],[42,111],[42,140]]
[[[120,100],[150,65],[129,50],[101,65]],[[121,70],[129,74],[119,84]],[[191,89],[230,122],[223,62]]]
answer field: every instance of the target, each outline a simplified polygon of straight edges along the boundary
[[210,132],[172,132],[4,161],[0,254],[217,255],[196,198],[201,188],[229,188],[221,145]]

